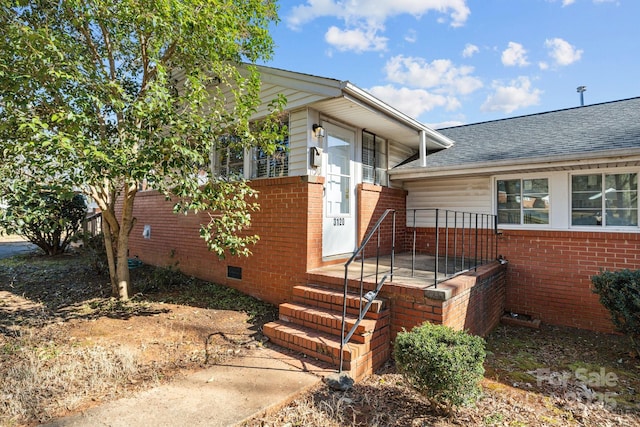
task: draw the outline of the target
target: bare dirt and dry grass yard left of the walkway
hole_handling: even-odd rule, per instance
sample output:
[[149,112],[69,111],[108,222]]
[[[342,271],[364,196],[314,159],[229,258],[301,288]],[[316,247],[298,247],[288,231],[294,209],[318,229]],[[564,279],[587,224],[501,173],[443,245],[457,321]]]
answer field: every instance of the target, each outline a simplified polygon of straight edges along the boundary
[[123,303],[105,297],[108,278],[86,257],[0,260],[0,426],[51,421],[241,355],[275,314],[175,270],[133,273],[144,294]]

